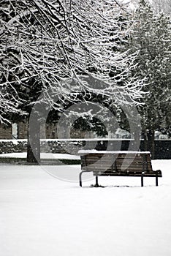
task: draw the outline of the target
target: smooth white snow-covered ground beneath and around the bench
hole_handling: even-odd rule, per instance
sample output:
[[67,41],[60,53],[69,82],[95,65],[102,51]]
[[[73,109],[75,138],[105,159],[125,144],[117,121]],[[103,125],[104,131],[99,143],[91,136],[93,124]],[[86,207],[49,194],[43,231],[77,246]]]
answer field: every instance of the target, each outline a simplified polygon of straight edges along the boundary
[[[170,256],[171,160],[154,160],[155,178],[92,176],[77,182],[80,165],[0,165],[0,255]],[[58,171],[57,171],[58,169]],[[72,174],[71,174],[72,173]],[[72,178],[70,178],[72,180]]]

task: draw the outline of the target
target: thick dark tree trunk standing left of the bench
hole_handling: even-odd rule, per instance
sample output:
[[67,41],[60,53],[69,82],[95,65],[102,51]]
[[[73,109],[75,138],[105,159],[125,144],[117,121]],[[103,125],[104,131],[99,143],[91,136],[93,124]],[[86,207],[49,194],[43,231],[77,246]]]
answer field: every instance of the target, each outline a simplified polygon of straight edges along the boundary
[[28,123],[28,143],[26,162],[40,163],[40,138],[39,138],[39,121],[34,124]]

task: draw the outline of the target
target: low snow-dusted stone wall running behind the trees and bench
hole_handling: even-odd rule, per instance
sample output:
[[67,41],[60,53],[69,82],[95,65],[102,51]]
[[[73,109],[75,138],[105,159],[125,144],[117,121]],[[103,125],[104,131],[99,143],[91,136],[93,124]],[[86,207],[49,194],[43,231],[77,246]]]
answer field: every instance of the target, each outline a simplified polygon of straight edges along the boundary
[[[77,154],[77,151],[96,148],[96,150],[128,150],[134,140],[41,140],[41,152]],[[144,151],[143,140],[140,150]],[[0,154],[23,152],[27,140],[0,140]],[[171,140],[155,141],[155,159],[171,159]]]

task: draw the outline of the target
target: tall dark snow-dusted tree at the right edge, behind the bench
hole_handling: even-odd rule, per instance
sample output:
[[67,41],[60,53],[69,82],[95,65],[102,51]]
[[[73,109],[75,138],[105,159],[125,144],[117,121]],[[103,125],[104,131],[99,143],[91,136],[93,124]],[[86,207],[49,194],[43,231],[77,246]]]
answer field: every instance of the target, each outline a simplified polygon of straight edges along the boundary
[[147,132],[151,151],[154,151],[154,132],[170,132],[171,75],[170,18],[154,14],[147,1],[141,1],[134,13],[133,31],[128,47],[139,51],[136,74],[146,78],[144,90],[149,92],[140,108],[144,132]]

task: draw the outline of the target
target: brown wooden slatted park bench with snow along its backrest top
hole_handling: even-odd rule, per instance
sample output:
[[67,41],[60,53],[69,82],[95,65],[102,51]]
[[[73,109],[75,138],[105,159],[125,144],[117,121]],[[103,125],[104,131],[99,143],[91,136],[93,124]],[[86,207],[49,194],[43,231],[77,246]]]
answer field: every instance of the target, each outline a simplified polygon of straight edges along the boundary
[[143,187],[144,177],[162,177],[161,170],[154,171],[151,165],[151,153],[148,151],[78,151],[81,159],[80,187],[82,187],[82,174],[93,172],[96,184],[99,187],[99,176],[128,176],[140,177]]

